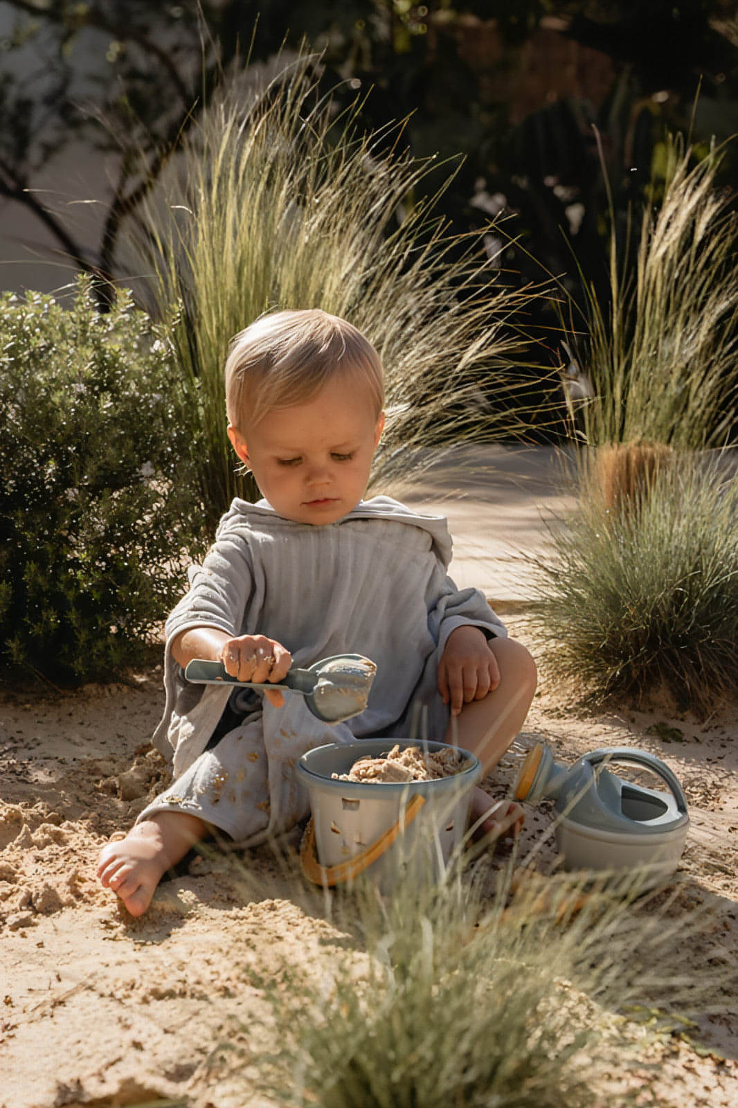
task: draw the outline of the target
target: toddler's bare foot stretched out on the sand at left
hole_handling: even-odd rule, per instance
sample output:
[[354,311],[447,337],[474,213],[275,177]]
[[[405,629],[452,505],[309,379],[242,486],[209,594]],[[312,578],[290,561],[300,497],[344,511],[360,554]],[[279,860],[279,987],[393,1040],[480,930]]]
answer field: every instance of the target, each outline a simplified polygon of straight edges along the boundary
[[125,839],[103,847],[100,883],[120,896],[131,915],[143,915],[162,876],[205,832],[206,824],[195,815],[158,812],[136,823]]

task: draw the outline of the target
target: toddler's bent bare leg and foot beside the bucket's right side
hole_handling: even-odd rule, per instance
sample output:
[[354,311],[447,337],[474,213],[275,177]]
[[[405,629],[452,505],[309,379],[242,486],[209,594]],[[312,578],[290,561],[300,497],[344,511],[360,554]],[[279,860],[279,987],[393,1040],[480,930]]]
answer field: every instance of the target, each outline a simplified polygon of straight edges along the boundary
[[[490,649],[500,669],[500,684],[483,700],[465,704],[457,717],[457,727],[449,722],[444,742],[451,742],[454,731],[460,747],[475,753],[488,773],[522,728],[535,693],[537,675],[530,653],[512,638],[493,638]],[[491,812],[490,810],[493,809]],[[484,832],[503,833],[522,824],[520,804],[503,803],[494,809],[483,789],[475,789],[472,797],[472,822],[485,813]]]

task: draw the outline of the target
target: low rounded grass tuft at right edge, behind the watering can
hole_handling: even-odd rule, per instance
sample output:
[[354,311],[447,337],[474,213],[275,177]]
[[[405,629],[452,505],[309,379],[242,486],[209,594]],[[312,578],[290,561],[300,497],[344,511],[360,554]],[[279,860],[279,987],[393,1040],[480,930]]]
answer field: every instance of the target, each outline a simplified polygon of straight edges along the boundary
[[721,455],[663,455],[613,502],[596,463],[537,563],[542,657],[577,693],[665,686],[711,710],[738,691],[738,489]]

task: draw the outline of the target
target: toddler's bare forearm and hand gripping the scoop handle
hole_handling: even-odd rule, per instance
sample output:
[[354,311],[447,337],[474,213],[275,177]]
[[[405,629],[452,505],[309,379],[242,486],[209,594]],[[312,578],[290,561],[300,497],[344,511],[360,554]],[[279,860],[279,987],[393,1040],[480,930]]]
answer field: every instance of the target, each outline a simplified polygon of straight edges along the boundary
[[[266,635],[233,637],[219,627],[187,627],[172,640],[172,655],[184,669],[193,658],[222,661],[226,673],[239,681],[280,681],[293,664],[289,650]],[[285,702],[281,693],[264,694],[279,708]]]

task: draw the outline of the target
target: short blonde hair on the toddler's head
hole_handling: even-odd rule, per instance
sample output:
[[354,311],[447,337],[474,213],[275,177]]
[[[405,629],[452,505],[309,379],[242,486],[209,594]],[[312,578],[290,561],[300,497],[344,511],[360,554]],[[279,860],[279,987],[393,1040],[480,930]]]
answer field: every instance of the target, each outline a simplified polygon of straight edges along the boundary
[[381,359],[352,324],[319,308],[262,316],[230,343],[225,366],[228,422],[243,432],[275,408],[305,403],[336,372],[365,379],[379,417],[385,402]]

